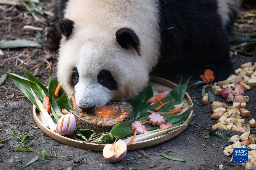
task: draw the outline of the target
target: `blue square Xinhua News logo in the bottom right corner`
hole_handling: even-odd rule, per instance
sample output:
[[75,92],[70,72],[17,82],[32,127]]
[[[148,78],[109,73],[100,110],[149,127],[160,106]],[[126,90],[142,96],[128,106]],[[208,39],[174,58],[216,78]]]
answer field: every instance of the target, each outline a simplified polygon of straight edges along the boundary
[[234,162],[246,163],[249,160],[249,150],[248,148],[234,148]]

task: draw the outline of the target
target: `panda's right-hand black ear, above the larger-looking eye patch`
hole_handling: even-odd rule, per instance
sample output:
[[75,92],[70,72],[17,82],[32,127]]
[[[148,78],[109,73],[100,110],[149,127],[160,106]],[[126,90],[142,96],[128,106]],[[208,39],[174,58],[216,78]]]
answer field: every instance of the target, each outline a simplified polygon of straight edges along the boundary
[[140,40],[137,34],[130,28],[120,28],[115,33],[116,41],[121,47],[129,49],[133,47],[140,55]]

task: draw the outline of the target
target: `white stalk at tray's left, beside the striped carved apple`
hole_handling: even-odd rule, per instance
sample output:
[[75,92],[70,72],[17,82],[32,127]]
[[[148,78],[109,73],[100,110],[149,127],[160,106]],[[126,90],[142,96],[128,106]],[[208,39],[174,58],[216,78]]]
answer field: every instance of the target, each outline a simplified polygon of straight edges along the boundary
[[41,103],[41,101],[38,99],[38,97],[36,96],[36,94],[34,93],[34,91],[31,89],[30,90],[36,100],[36,104],[39,108],[39,111],[42,113],[46,123],[48,124],[50,130],[52,130],[53,132],[56,132],[56,124],[53,122],[53,120],[51,119],[51,116],[48,114],[47,110],[45,109],[44,105]]

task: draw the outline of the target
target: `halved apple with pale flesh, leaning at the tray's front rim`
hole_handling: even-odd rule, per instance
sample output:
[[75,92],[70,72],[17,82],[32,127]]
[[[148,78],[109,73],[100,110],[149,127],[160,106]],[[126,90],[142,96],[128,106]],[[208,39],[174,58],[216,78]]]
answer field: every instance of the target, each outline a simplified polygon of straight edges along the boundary
[[[113,150],[114,147],[117,147],[118,149]],[[120,150],[119,150],[120,149]],[[109,154],[109,152],[112,152],[112,155]],[[121,152],[121,153],[120,153]],[[123,159],[127,152],[127,146],[125,142],[122,139],[119,139],[115,144],[106,144],[103,148],[103,156],[104,158],[109,162],[117,162]],[[117,156],[117,157],[116,157]]]

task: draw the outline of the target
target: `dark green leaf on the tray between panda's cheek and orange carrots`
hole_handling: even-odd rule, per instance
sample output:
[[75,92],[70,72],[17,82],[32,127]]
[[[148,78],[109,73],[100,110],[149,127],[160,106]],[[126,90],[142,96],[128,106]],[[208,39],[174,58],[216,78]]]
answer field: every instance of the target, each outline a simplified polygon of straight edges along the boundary
[[152,86],[145,88],[139,95],[130,99],[128,102],[132,104],[133,116],[136,117],[138,112],[142,109],[151,105],[151,103],[146,103],[148,99],[153,96]]

